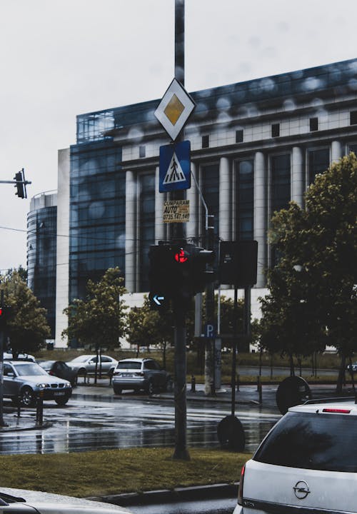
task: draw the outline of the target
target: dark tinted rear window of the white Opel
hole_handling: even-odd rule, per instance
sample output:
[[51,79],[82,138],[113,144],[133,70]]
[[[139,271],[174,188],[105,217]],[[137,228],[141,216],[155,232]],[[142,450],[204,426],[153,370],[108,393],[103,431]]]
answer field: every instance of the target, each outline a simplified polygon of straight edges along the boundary
[[356,473],[356,428],[354,415],[287,413],[253,460],[290,468]]

